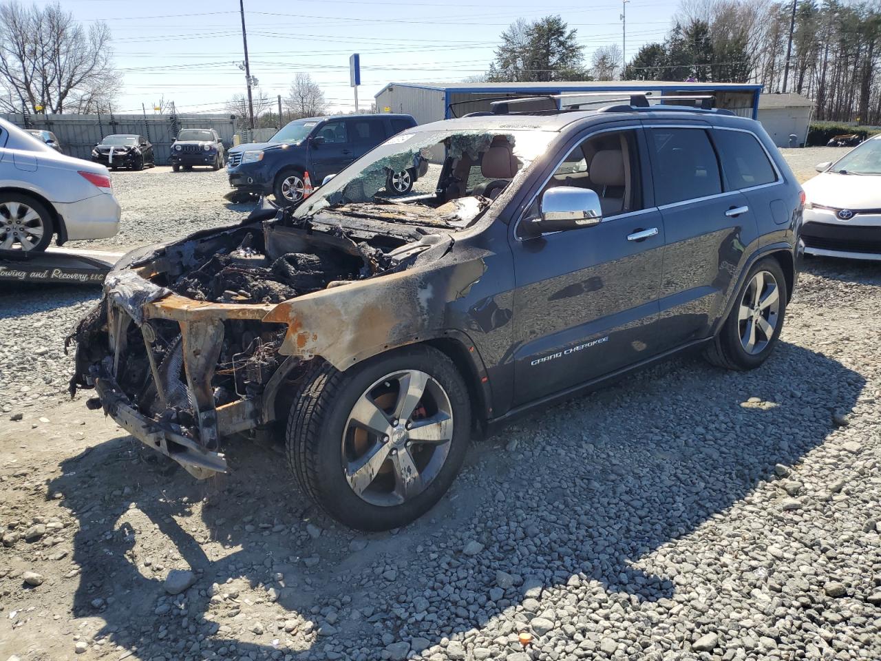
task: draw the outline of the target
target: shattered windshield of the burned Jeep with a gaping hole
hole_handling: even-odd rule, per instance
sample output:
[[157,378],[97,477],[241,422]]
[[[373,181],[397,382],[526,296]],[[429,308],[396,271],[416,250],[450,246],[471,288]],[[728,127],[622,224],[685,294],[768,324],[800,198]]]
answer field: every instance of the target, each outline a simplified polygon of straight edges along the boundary
[[504,128],[400,133],[317,189],[293,215],[375,216],[381,207],[382,215],[402,222],[442,216],[443,224],[455,225],[451,219],[467,221],[492,204],[554,135]]

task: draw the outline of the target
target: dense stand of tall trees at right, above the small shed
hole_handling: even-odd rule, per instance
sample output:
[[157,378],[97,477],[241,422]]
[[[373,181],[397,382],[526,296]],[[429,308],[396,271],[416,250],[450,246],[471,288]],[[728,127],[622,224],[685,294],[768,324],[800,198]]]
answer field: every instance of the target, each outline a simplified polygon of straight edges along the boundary
[[662,43],[640,48],[625,78],[758,82],[814,100],[818,120],[881,123],[877,2],[685,0]]

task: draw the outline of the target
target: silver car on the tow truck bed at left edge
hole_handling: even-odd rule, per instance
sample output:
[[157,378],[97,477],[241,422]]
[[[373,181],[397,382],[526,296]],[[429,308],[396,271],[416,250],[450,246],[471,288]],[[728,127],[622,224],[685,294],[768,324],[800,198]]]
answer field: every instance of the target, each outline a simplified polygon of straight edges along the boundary
[[106,239],[121,210],[107,167],[56,152],[0,119],[0,252]]

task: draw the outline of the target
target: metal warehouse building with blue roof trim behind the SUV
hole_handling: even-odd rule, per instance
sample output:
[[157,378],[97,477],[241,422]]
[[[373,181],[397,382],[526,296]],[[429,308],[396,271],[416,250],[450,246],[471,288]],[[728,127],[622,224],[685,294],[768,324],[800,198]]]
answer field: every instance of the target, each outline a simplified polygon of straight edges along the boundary
[[[608,99],[621,99],[627,93],[645,92],[652,96],[713,95],[716,108],[727,108],[736,115],[756,119],[762,85],[746,83],[676,83],[647,80],[605,80],[555,83],[452,83],[414,85],[389,83],[376,94],[379,112],[407,113],[420,124],[437,122],[468,113],[490,110],[491,100],[529,97],[541,94],[609,93]],[[602,97],[601,97],[602,99]],[[585,98],[597,100],[595,96]],[[575,96],[566,102],[577,102]],[[528,108],[527,104],[518,106]],[[557,100],[559,107],[560,101]],[[598,108],[599,106],[597,106]]]

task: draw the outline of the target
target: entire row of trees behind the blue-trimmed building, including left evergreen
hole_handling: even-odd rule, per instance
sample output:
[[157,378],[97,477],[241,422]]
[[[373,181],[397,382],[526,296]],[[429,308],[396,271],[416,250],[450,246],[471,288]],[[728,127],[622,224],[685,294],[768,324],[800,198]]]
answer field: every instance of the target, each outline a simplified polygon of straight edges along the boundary
[[811,98],[816,120],[881,124],[881,2],[796,0],[792,20],[793,0],[682,0],[666,39],[640,48],[624,71],[617,45],[594,49],[586,65],[559,16],[521,20],[502,33],[483,78],[757,82]]

